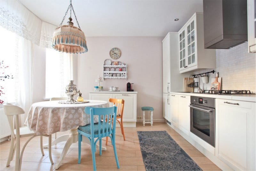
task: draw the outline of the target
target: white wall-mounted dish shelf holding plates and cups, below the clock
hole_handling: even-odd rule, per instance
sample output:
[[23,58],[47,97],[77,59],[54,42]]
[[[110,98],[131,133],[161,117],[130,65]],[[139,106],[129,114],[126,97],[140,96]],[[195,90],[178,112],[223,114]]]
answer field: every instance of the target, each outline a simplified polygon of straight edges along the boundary
[[103,79],[106,78],[127,79],[127,65],[103,65]]

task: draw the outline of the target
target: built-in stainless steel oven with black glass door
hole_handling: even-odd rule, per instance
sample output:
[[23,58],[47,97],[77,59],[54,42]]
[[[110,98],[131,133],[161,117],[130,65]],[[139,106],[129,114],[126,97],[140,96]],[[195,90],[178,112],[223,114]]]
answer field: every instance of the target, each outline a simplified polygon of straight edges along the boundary
[[190,132],[215,147],[215,98],[190,97]]

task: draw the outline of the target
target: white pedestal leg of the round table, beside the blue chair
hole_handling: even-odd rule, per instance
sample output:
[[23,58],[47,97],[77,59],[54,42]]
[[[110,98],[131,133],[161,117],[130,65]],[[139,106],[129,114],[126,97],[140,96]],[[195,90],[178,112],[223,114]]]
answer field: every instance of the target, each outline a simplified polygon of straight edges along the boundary
[[[70,145],[73,144],[73,143],[76,143],[77,141],[78,141],[77,128],[71,129],[70,130],[70,134],[69,134],[69,138],[68,138],[68,140],[67,140],[67,142],[66,142],[66,144],[65,144],[65,146],[63,148],[63,151],[62,151],[62,153],[60,155],[60,158],[58,159],[58,161],[57,161],[57,163],[56,163],[56,165],[54,167],[55,169],[58,169],[60,167],[60,165],[62,163],[62,160],[66,156]],[[87,144],[91,144],[89,139],[86,138],[86,137],[83,137],[83,142],[87,143]],[[99,149],[99,145],[98,144],[96,145],[96,148]],[[107,148],[106,147],[102,147],[102,150],[106,151]]]

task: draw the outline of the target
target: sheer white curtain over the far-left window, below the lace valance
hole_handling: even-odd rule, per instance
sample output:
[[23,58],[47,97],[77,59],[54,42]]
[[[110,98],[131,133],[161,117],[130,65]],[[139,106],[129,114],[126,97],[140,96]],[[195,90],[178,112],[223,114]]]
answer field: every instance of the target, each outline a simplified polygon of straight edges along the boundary
[[[7,42],[1,41],[0,60],[8,66],[4,69],[5,74],[11,78],[1,80],[4,95],[1,99],[6,103],[16,103],[25,110],[25,115],[20,120],[23,125],[32,104],[33,95],[33,43],[29,40],[12,33],[0,26],[0,35]],[[2,72],[2,70],[1,70]]]

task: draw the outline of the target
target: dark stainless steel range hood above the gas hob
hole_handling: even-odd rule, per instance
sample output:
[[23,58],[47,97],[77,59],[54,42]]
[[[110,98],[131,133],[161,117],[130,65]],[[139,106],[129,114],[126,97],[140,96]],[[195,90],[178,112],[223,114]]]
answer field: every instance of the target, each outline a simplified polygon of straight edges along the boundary
[[204,48],[229,49],[247,41],[246,0],[204,0]]

